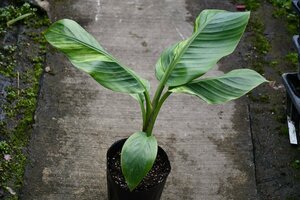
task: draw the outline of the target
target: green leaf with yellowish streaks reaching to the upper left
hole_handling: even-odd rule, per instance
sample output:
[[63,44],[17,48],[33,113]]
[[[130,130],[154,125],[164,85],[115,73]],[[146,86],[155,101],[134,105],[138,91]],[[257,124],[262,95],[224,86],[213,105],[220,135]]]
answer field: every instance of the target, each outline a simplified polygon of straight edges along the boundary
[[45,38],[63,52],[75,67],[90,74],[102,86],[130,94],[145,91],[141,78],[109,55],[75,21],[63,19],[55,22],[45,33]]

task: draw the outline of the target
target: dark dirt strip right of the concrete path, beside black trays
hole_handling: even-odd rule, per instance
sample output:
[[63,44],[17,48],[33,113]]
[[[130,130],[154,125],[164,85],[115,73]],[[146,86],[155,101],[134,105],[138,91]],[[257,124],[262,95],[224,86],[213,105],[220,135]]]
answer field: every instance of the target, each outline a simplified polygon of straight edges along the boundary
[[269,80],[276,81],[275,89],[261,87],[250,100],[257,189],[262,199],[299,199],[300,171],[291,164],[299,160],[300,151],[289,144],[286,97],[281,83],[282,73],[296,71],[286,59],[286,55],[294,51],[292,36],[285,22],[274,19],[272,14],[273,7],[268,3],[262,4],[256,12],[265,25],[264,34],[271,45],[265,55],[263,71]]

